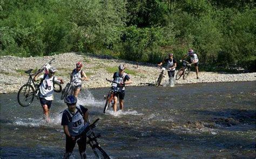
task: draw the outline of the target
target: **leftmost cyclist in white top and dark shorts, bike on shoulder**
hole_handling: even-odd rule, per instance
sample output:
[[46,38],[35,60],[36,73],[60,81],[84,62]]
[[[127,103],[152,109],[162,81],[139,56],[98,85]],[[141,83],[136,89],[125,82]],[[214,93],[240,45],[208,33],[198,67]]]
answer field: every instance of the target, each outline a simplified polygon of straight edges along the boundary
[[50,67],[48,74],[43,74],[39,76],[41,72],[35,75],[33,81],[41,81],[39,83],[39,100],[44,110],[44,118],[46,122],[50,121],[49,114],[50,108],[53,100],[53,83],[55,84],[63,84],[64,81],[62,78],[56,78],[54,74],[56,73],[57,69],[55,67]]

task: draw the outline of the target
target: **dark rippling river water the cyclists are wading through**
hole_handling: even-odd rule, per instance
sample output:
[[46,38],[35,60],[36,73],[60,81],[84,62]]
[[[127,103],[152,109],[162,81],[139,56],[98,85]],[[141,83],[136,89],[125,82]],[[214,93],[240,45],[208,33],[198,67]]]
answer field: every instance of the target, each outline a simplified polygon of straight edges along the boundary
[[[109,89],[83,90],[91,122],[99,118],[99,143],[111,158],[255,158],[255,82],[127,87],[125,110],[103,113]],[[0,95],[0,158],[62,158],[60,125],[66,105],[56,93],[51,122],[37,99],[17,103]],[[87,156],[95,158],[90,147]],[[79,158],[78,147],[73,158]]]

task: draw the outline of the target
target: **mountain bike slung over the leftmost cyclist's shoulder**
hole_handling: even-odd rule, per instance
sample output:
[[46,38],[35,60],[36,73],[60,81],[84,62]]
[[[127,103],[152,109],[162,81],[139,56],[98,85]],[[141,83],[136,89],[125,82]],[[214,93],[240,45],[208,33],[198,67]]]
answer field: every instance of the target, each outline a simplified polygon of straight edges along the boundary
[[[34,98],[36,97],[37,99],[39,99],[39,86],[40,84],[36,84],[33,81],[32,76],[42,72],[45,69],[45,66],[48,66],[48,64],[50,65],[55,59],[52,59],[49,62],[46,62],[38,71],[36,71],[36,73],[31,73],[31,71],[33,69],[29,69],[26,70],[25,73],[29,74],[29,80],[26,84],[24,84],[18,91],[18,103],[19,105],[26,107],[29,106]],[[61,86],[59,85],[59,89],[61,90]],[[59,91],[59,90],[57,90]]]

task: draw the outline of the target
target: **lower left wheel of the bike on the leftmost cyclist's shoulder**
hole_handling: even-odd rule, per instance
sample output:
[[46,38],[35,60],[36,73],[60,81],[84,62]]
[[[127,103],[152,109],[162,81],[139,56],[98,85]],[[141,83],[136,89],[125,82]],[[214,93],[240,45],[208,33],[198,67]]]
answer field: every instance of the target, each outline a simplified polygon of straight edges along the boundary
[[18,91],[18,103],[19,105],[25,107],[29,106],[35,97],[35,89],[30,84],[24,84]]

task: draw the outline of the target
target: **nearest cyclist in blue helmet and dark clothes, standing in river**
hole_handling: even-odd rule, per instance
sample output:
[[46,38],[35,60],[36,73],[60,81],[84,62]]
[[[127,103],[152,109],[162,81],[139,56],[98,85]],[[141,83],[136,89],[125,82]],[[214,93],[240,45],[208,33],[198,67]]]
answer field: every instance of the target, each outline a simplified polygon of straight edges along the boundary
[[77,98],[69,95],[65,98],[68,108],[63,111],[62,124],[66,135],[66,152],[64,158],[69,158],[72,151],[78,144],[81,158],[86,158],[86,135],[79,134],[88,119],[88,109],[82,105],[77,105]]

